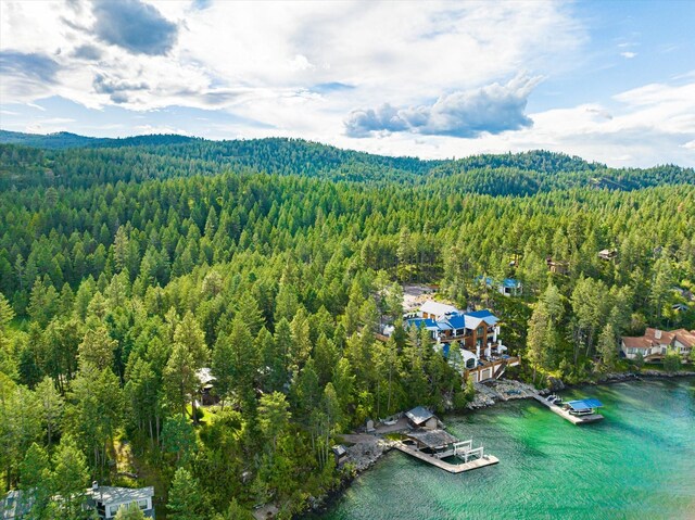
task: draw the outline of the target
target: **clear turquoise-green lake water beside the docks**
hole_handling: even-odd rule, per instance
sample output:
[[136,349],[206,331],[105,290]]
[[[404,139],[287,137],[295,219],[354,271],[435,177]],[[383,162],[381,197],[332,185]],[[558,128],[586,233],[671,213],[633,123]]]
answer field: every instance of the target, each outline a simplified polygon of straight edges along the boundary
[[445,418],[500,464],[450,474],[391,452],[321,520],[695,519],[695,380],[586,386],[602,422],[532,401]]

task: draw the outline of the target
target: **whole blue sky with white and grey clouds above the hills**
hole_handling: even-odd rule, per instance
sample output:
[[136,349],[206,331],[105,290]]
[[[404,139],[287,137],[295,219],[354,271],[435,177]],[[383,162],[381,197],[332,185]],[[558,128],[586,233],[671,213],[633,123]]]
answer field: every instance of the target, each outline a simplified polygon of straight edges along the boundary
[[695,2],[0,0],[0,128],[695,166]]

